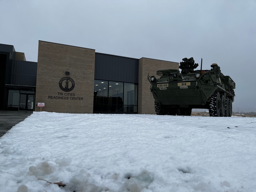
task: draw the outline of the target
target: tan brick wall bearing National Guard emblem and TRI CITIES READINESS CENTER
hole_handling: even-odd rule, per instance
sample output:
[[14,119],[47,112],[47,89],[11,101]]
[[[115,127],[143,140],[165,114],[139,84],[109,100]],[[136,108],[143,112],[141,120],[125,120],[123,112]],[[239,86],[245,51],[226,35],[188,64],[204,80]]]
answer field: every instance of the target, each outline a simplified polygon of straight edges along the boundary
[[[35,111],[40,111],[37,103],[41,102],[45,103],[42,111],[93,113],[94,65],[94,49],[39,41]],[[66,75],[66,71],[70,74]],[[60,89],[59,81],[63,77],[73,79],[72,91]]]

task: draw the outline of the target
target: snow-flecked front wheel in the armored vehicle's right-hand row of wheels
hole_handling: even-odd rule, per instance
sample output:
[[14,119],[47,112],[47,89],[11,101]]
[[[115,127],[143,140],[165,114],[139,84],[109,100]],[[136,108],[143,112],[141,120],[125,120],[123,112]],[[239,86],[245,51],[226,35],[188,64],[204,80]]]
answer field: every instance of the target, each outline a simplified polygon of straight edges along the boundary
[[215,91],[210,97],[209,114],[211,117],[219,117],[221,100],[219,91]]

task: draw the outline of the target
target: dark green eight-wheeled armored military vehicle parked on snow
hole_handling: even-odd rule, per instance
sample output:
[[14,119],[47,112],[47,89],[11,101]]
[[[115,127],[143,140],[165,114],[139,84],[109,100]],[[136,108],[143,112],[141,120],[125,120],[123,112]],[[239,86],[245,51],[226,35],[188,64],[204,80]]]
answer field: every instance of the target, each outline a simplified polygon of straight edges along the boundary
[[179,68],[158,70],[148,76],[157,115],[191,115],[192,108],[208,109],[210,116],[231,116],[235,82],[213,63],[211,69],[195,70],[193,57],[182,59]]

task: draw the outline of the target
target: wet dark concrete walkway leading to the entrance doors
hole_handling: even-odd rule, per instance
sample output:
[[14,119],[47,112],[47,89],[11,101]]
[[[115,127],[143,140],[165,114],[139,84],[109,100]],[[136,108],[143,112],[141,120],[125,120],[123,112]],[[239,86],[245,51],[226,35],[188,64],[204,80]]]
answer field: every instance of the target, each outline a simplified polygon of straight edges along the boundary
[[33,111],[0,111],[0,137],[32,113]]

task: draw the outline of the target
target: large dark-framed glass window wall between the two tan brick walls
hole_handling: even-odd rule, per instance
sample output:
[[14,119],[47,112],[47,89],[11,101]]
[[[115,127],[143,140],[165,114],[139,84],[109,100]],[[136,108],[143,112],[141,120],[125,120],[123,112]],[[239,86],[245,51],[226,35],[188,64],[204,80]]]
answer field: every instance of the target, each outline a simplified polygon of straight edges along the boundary
[[137,84],[94,80],[93,112],[137,113]]

